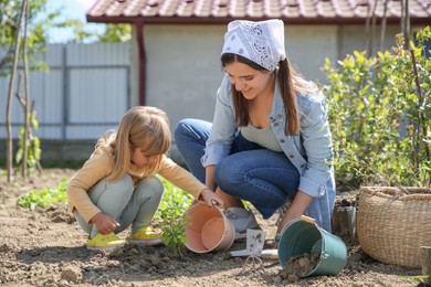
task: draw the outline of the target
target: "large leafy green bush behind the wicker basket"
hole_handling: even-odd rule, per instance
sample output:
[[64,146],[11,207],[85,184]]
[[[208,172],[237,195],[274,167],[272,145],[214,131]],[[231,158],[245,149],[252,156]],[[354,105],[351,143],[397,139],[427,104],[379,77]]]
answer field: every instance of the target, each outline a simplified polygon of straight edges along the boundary
[[429,185],[431,179],[431,60],[424,43],[430,26],[403,50],[367,57],[354,52],[323,67],[338,184]]

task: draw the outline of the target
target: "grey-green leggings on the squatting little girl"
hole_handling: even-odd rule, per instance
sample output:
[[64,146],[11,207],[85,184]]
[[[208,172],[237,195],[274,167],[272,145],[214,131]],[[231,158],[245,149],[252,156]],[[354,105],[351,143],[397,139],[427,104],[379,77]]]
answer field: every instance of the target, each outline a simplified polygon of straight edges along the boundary
[[[126,174],[114,182],[101,180],[92,188],[88,195],[103,213],[120,224],[115,233],[120,233],[132,224],[132,234],[134,234],[151,223],[164,195],[164,185],[158,178],[146,177],[134,188],[132,177]],[[94,224],[87,223],[77,211],[75,217],[91,238],[97,235]]]

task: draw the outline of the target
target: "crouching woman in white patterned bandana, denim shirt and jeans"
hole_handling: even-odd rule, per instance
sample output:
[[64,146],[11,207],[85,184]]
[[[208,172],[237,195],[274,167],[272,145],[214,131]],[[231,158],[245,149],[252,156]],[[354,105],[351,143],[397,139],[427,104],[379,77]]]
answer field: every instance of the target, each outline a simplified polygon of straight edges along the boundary
[[221,54],[225,75],[213,121],[181,120],[175,131],[190,171],[225,204],[236,233],[285,210],[277,234],[302,214],[330,231],[335,201],[327,106],[290,65],[281,20],[233,21]]

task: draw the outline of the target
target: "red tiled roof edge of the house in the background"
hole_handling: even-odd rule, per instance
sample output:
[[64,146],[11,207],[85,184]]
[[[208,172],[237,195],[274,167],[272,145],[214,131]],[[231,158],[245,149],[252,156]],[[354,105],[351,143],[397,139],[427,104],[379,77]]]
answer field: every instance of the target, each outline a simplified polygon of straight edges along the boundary
[[[148,24],[218,24],[233,19],[277,18],[297,24],[362,24],[377,2],[383,17],[386,0],[97,0],[88,22]],[[388,0],[387,21],[399,23],[401,0]],[[409,0],[411,23],[431,24],[431,0]]]

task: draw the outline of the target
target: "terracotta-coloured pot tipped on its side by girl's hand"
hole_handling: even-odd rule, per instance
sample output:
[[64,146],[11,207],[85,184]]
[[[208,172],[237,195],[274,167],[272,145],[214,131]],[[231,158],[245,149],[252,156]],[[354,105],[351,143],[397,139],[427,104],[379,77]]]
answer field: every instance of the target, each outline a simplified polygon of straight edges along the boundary
[[186,211],[186,247],[196,253],[229,249],[235,238],[235,227],[224,212],[198,202]]

